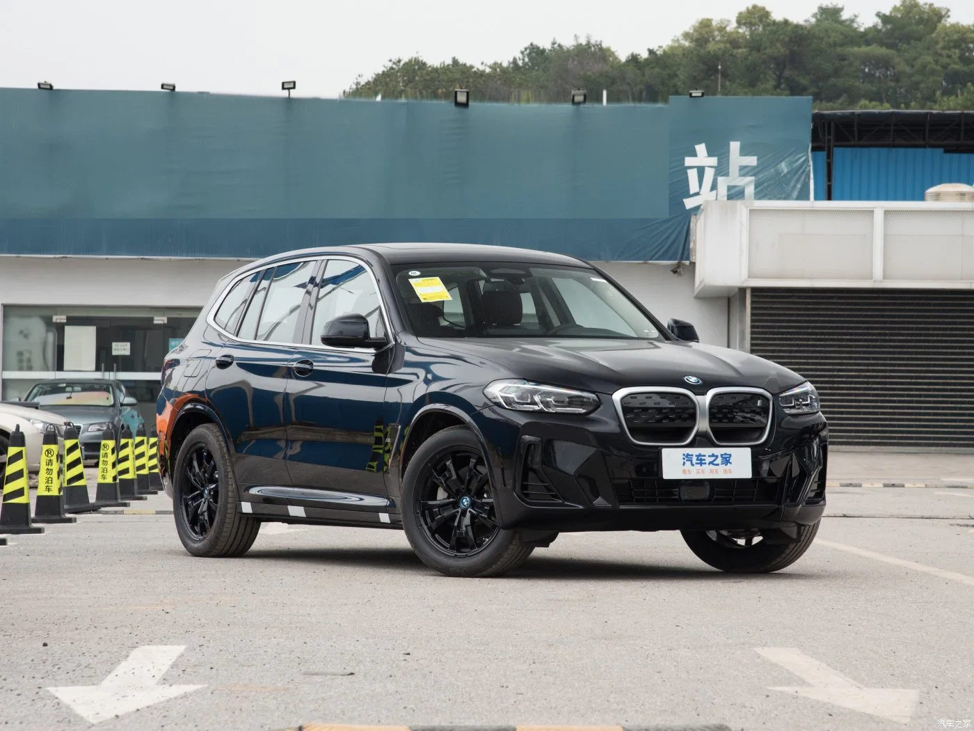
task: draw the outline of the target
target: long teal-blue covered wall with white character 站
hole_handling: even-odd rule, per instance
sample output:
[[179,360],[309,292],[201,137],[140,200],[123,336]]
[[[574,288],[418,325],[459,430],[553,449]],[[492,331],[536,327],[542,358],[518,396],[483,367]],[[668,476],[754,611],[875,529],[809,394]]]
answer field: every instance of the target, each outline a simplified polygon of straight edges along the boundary
[[0,253],[455,241],[686,259],[700,202],[808,198],[810,117],[810,99],[780,97],[463,109],[0,90]]

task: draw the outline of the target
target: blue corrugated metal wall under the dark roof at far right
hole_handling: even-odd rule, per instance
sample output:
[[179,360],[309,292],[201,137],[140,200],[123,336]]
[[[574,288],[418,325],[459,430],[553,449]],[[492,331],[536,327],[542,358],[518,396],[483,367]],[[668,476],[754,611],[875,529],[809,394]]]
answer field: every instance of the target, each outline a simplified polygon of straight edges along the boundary
[[[825,200],[825,153],[812,153],[815,200]],[[922,201],[945,182],[974,184],[974,154],[912,147],[837,147],[834,201]]]

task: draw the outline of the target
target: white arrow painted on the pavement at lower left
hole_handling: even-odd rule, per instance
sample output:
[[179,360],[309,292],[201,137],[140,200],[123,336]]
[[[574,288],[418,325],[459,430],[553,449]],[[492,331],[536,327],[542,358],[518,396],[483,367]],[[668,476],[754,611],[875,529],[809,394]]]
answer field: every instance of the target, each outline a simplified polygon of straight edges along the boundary
[[186,645],[136,647],[100,685],[48,688],[72,711],[91,723],[168,701],[206,685],[157,685]]

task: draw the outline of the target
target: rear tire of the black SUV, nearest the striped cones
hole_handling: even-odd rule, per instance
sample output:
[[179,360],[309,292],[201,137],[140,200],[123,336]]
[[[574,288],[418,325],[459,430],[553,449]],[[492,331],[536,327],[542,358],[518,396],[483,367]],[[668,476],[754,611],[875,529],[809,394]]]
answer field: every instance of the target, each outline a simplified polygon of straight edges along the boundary
[[[207,488],[206,523],[202,528],[202,509],[193,511],[187,501],[195,503],[195,495],[200,494],[190,473],[194,464],[208,464],[206,454],[212,457],[212,471],[206,482],[212,481],[215,491]],[[206,475],[206,470],[200,471]],[[215,493],[215,496],[213,496]],[[215,509],[209,507],[215,503]],[[243,556],[253,545],[260,530],[260,521],[246,516],[241,511],[237,481],[227,451],[226,442],[219,427],[215,424],[202,424],[190,432],[186,441],[179,447],[175,469],[172,471],[172,515],[175,518],[176,532],[183,547],[193,556],[203,558],[230,558]]]

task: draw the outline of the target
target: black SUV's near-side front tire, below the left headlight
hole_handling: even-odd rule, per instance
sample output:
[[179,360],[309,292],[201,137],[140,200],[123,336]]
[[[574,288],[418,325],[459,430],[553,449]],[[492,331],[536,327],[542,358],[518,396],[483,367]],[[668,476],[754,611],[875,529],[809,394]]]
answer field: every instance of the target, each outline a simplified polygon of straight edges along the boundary
[[[474,468],[473,460],[477,456],[480,461],[477,462],[476,467],[482,466],[482,471]],[[470,460],[466,473],[463,469],[454,473],[454,477],[458,475],[461,477],[463,484],[467,485],[469,482],[469,489],[457,489],[451,484],[445,484],[439,490],[444,497],[434,501],[444,503],[441,508],[435,509],[442,512],[431,513],[431,509],[427,507],[430,504],[431,491],[437,489],[436,484],[440,484],[435,482],[434,476],[439,474],[437,470],[445,460],[454,458],[458,461]],[[409,462],[409,467],[406,468],[402,481],[402,526],[406,538],[420,560],[446,576],[500,576],[520,566],[534,551],[532,547],[521,543],[517,531],[504,530],[497,526],[493,509],[496,491],[490,482],[484,460],[480,443],[472,432],[464,427],[450,427],[436,432],[426,442],[420,444]],[[474,477],[470,477],[471,474]],[[457,494],[451,497],[447,489],[452,489]],[[472,504],[468,501],[468,507],[463,508],[461,500],[464,495],[468,498],[478,497],[472,500]],[[454,498],[455,506],[450,502]],[[456,518],[447,517],[446,514],[450,511],[454,511],[452,515]],[[459,541],[456,550],[447,546],[446,539],[435,530],[431,530],[431,525],[437,522],[431,520],[431,516],[435,516],[437,520],[447,518],[442,523],[444,531],[456,530],[456,525],[466,520],[470,524],[470,538],[465,532],[462,539],[464,549],[460,548]],[[456,520],[452,528],[451,520]],[[485,527],[491,522],[495,527],[486,528],[485,531]],[[479,525],[481,530],[482,544],[479,546],[472,527],[474,524]],[[485,535],[487,537],[484,537]],[[453,543],[451,542],[450,545]]]

